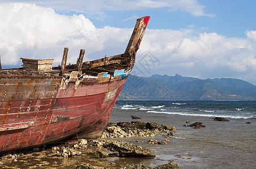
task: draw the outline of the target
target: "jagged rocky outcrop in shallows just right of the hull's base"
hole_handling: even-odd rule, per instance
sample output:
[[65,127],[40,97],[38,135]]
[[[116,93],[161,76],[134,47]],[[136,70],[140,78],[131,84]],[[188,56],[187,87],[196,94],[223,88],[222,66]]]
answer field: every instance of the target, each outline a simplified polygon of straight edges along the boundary
[[159,125],[155,122],[111,122],[106,125],[102,138],[134,136],[153,137],[158,132],[170,131],[176,132],[175,127],[170,127],[165,124]]

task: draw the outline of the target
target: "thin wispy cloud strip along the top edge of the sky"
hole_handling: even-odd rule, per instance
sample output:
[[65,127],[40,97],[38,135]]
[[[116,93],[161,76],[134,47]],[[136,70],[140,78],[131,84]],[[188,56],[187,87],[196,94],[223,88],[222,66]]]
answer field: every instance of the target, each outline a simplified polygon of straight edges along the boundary
[[169,8],[169,11],[182,10],[189,12],[193,16],[214,16],[207,14],[205,7],[200,5],[197,0],[2,0],[2,3],[10,2],[27,2],[36,3],[44,7],[53,7],[59,11],[76,11],[86,14],[99,15],[99,17],[105,17],[105,11],[114,10],[145,10],[153,8]]

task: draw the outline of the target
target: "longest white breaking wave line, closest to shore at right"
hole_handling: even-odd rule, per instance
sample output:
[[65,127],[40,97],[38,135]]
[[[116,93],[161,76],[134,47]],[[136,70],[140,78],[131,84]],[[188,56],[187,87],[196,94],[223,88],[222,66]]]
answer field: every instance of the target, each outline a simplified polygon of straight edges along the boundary
[[197,114],[197,113],[181,113],[181,112],[160,112],[155,110],[149,110],[147,113],[163,113],[171,115],[187,115],[187,116],[198,116],[198,117],[223,117],[223,118],[234,118],[234,119],[249,119],[255,118],[254,115],[242,116],[242,115],[220,115],[220,114]]

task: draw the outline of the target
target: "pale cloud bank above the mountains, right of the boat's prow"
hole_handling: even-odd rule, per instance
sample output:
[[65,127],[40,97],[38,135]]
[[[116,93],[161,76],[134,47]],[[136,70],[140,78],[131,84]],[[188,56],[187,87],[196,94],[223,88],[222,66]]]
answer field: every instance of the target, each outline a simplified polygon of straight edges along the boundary
[[160,74],[200,78],[233,77],[256,84],[255,31],[248,38],[233,38],[193,29],[147,30],[140,52],[150,51],[161,62]]

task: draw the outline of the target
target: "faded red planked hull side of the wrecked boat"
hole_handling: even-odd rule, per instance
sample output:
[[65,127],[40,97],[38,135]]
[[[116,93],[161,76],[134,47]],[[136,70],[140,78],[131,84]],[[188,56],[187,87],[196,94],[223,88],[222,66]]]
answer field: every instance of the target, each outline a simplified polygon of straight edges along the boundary
[[[59,90],[61,79],[38,80],[41,84],[29,87],[31,79],[0,79],[0,152],[50,143],[79,132],[88,139],[99,138],[126,78],[95,84],[84,78],[76,90],[72,82]],[[109,96],[109,92],[114,93]]]

